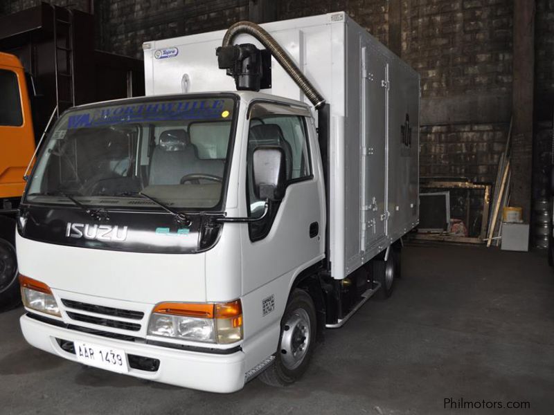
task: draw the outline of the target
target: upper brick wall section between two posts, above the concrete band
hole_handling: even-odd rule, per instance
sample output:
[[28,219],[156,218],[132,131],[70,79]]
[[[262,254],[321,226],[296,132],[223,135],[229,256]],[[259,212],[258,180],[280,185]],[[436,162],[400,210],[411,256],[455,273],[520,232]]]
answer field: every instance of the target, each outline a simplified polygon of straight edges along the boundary
[[404,0],[402,58],[422,96],[511,92],[512,1]]

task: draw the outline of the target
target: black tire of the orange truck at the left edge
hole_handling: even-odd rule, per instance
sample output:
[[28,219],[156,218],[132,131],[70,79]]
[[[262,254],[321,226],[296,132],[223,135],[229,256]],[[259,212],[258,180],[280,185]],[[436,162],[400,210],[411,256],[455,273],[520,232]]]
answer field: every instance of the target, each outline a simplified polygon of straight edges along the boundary
[[0,239],[0,311],[11,310],[20,303],[15,248],[8,241]]

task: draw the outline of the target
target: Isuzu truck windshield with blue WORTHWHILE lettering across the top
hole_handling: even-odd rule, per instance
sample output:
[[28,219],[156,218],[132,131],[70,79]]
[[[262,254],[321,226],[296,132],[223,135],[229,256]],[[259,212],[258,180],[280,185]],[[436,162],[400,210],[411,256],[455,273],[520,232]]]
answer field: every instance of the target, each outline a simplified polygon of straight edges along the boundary
[[235,98],[120,102],[66,112],[48,136],[26,202],[104,208],[222,208]]

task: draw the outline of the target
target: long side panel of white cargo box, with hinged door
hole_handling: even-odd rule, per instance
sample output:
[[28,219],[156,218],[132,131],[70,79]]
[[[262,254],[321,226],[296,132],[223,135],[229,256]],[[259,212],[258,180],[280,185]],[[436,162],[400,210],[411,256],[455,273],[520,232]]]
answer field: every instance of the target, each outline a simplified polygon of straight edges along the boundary
[[344,267],[335,278],[418,222],[418,74],[351,19],[346,34]]

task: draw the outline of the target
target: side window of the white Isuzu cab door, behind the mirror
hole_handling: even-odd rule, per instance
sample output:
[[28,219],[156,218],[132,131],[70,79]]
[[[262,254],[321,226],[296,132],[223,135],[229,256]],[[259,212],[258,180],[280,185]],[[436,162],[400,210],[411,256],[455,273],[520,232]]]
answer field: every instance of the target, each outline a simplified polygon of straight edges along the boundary
[[[312,177],[310,148],[308,145],[305,117],[296,115],[266,114],[252,118],[250,122],[247,151],[247,203],[249,216],[260,217],[265,201],[256,197],[252,177],[252,154],[260,146],[277,146],[285,154],[287,183],[294,183]],[[250,237],[257,240],[265,237],[278,206],[273,204],[267,219],[251,223]]]

